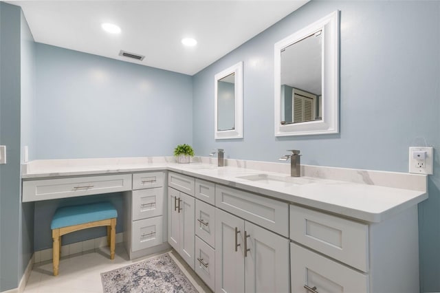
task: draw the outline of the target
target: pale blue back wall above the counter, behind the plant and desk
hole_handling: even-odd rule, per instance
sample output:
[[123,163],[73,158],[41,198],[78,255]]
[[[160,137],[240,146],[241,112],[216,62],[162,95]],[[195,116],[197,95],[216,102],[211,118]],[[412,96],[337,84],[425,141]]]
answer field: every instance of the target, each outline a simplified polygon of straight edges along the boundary
[[36,45],[36,158],[173,155],[192,142],[192,78]]

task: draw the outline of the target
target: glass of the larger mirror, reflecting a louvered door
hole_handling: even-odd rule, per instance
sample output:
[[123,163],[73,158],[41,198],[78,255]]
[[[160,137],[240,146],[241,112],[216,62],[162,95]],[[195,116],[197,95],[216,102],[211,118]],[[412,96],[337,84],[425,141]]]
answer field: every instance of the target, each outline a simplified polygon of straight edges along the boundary
[[281,124],[321,120],[322,30],[281,50]]

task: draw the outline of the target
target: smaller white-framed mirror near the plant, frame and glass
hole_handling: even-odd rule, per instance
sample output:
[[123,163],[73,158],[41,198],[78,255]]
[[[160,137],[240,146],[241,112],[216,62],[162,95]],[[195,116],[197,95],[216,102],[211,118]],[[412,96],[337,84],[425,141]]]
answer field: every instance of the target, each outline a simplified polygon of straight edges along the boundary
[[243,138],[243,62],[214,76],[215,139]]

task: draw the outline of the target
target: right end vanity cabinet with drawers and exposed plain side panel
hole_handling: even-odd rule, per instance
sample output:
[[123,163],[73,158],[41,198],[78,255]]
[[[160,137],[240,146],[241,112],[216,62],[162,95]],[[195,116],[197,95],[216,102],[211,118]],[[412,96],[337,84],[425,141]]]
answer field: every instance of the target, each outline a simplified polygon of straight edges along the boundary
[[419,292],[417,206],[362,223],[290,206],[292,292]]

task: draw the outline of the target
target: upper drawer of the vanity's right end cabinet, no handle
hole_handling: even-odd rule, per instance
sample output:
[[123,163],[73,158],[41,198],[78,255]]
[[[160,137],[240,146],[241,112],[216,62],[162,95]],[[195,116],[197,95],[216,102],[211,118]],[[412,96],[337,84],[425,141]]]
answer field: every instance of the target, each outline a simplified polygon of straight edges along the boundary
[[369,270],[369,228],[349,219],[290,206],[290,238],[333,259]]

